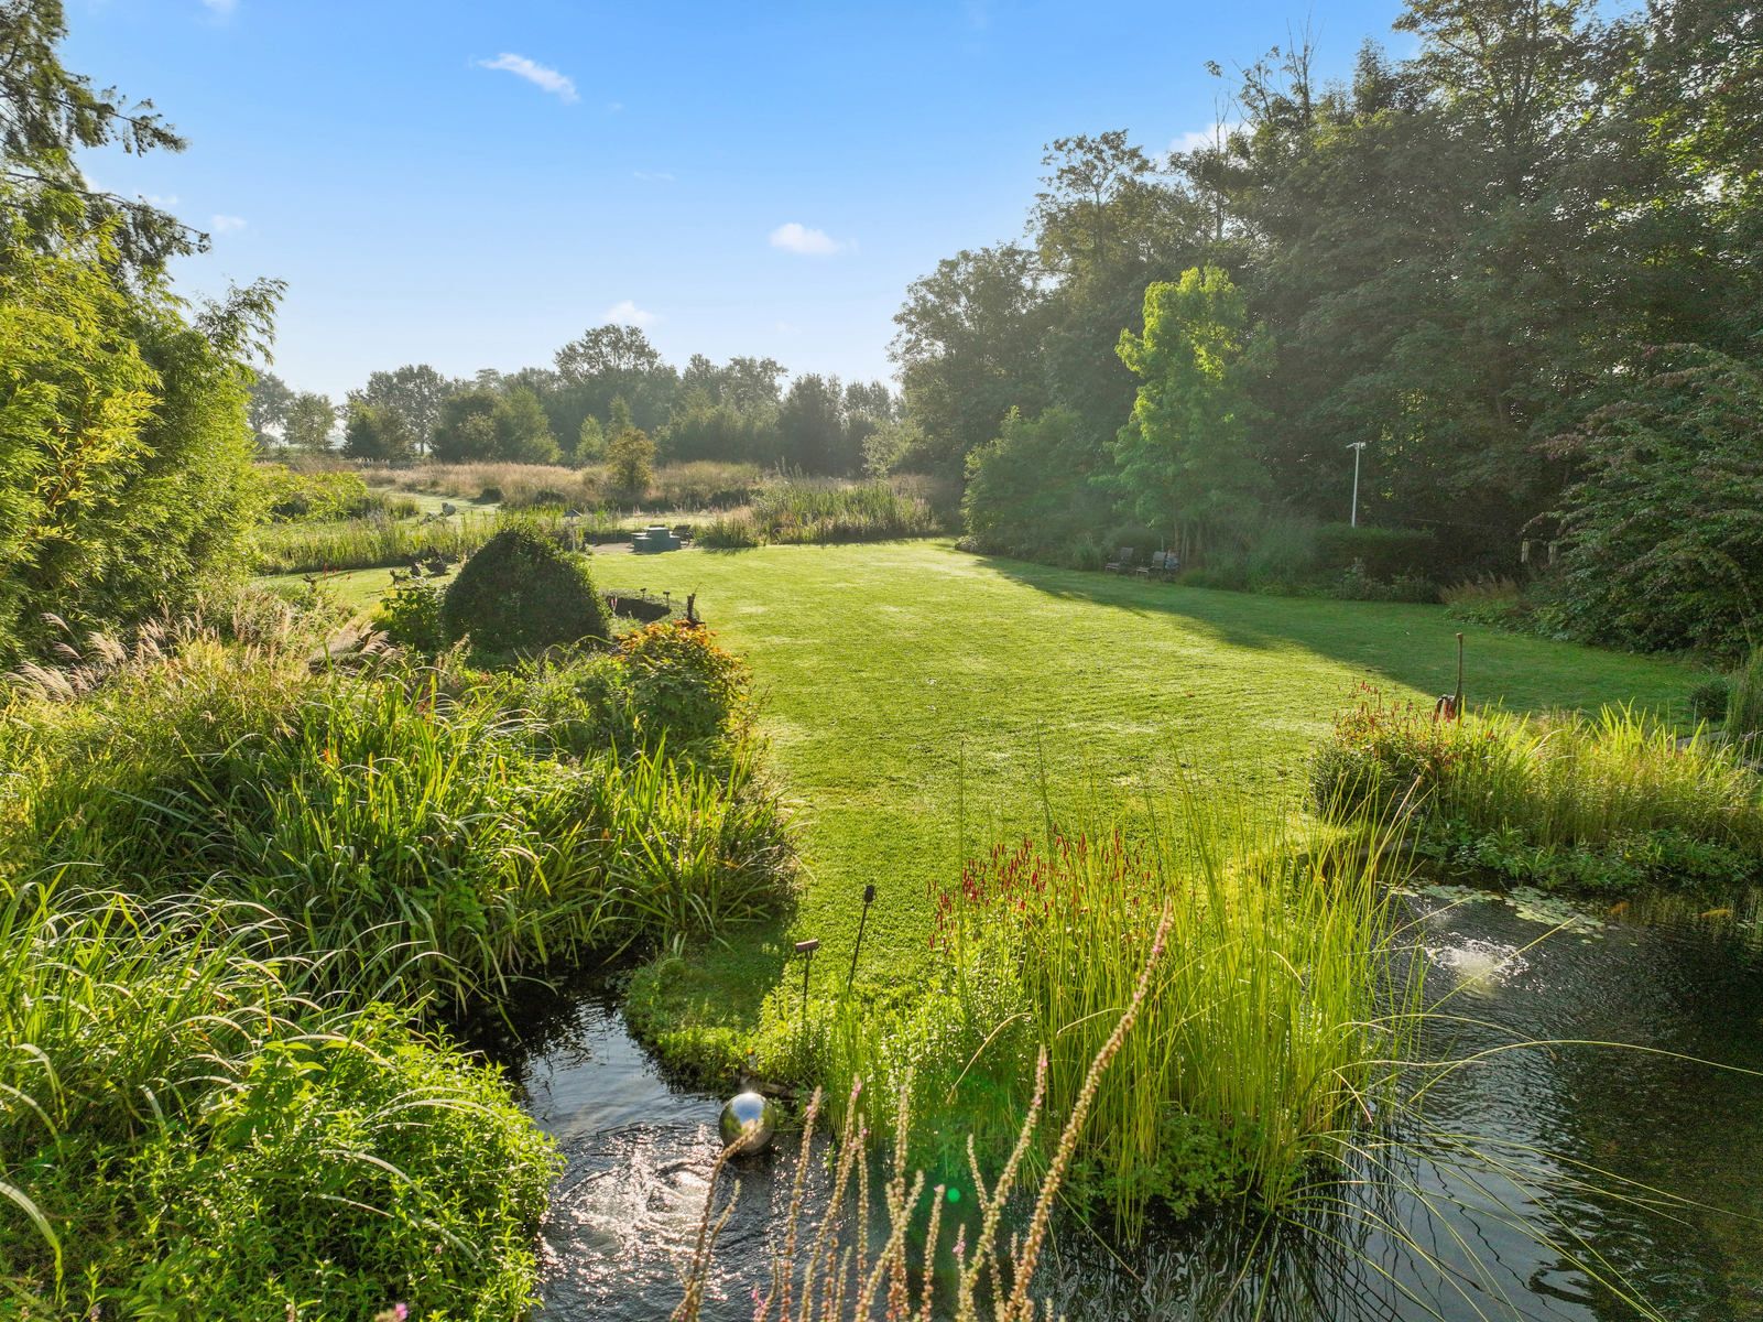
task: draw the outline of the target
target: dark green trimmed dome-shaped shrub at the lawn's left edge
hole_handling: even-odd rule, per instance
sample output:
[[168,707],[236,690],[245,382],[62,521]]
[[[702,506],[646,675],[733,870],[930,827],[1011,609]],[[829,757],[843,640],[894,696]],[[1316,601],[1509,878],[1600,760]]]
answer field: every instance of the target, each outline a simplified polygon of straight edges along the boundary
[[441,635],[487,652],[536,652],[610,636],[587,564],[532,529],[510,527],[465,561],[441,601]]

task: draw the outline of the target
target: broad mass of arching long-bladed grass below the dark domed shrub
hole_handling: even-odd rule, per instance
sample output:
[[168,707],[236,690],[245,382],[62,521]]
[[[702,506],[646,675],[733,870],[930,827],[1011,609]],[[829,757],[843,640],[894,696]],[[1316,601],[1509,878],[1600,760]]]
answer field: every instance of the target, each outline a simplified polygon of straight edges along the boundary
[[[666,703],[628,684],[622,746],[531,710],[532,670],[316,675],[206,635],[83,696],[37,686],[0,712],[0,871],[261,906],[324,954],[324,985],[451,1010],[633,943],[723,938],[790,876],[744,675],[709,640],[636,650]],[[695,684],[728,723],[675,756],[666,721],[705,719]]]

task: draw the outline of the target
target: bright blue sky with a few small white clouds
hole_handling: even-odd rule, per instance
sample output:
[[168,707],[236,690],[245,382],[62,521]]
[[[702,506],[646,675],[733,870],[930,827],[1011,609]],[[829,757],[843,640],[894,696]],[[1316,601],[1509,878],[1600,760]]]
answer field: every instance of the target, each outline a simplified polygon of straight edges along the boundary
[[190,139],[90,173],[213,231],[185,289],[287,280],[275,370],[340,398],[608,319],[887,377],[906,284],[1023,233],[1044,143],[1164,150],[1216,118],[1206,60],[1308,19],[1343,74],[1398,7],[69,0],[65,55]]

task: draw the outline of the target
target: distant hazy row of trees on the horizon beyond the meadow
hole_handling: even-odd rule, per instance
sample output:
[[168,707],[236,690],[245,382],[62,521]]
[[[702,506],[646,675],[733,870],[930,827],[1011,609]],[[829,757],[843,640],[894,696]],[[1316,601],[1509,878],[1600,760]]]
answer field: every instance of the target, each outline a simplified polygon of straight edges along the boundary
[[635,430],[666,462],[825,474],[857,472],[866,446],[897,430],[894,393],[880,381],[806,374],[785,390],[785,375],[770,358],[718,365],[702,354],[677,370],[640,328],[606,324],[559,349],[548,368],[455,381],[413,363],[374,372],[342,407],[266,372],[252,388],[250,425],[264,449],[323,453],[340,421],[344,455],[386,464],[601,464]]

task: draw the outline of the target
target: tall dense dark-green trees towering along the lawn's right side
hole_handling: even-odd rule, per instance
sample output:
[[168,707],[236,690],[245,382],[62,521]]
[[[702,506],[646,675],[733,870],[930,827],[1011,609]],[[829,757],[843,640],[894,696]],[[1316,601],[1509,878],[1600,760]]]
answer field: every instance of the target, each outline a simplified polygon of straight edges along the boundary
[[[978,455],[984,490],[1035,490],[1038,513],[980,509],[994,539],[1132,518],[1204,555],[1275,513],[1345,516],[1365,442],[1361,520],[1432,529],[1462,573],[1562,536],[1588,580],[1627,545],[1597,502],[1645,499],[1597,476],[1624,448],[1694,451],[1666,465],[1687,509],[1763,494],[1728,398],[1763,363],[1763,12],[1410,0],[1396,26],[1416,53],[1368,44],[1343,83],[1308,41],[1241,69],[1201,150],[1053,143],[1030,241],[908,291],[901,462]],[[1671,573],[1733,583],[1730,622],[1763,631],[1742,522]],[[1587,610],[1597,636],[1710,636]]]

